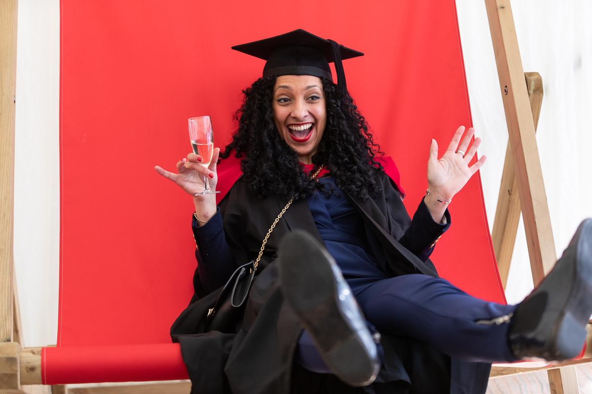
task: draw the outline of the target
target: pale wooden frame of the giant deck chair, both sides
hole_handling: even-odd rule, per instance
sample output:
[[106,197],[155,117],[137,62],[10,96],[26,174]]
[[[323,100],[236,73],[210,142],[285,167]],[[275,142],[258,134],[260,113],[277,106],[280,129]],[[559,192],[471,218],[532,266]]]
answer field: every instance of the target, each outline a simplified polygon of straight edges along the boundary
[[[505,287],[511,253],[522,210],[533,283],[538,284],[556,261],[545,187],[535,139],[542,103],[538,73],[525,74],[509,0],[485,0],[500,89],[506,112],[509,142],[500,185],[492,239]],[[16,96],[18,0],[0,2],[0,392],[24,393],[21,385],[40,384],[40,356],[36,349],[23,350],[19,343],[20,316],[15,288],[13,242],[14,131]],[[591,327],[588,325],[588,327]],[[592,330],[589,330],[589,334]],[[588,349],[592,351],[592,335]],[[552,393],[577,393],[575,364],[570,360],[547,367]],[[532,369],[494,367],[491,377],[530,372]],[[145,387],[142,388],[146,390]],[[55,391],[65,392],[63,388]],[[88,392],[88,391],[85,391]],[[97,391],[98,392],[98,391]],[[110,390],[110,392],[112,392]]]

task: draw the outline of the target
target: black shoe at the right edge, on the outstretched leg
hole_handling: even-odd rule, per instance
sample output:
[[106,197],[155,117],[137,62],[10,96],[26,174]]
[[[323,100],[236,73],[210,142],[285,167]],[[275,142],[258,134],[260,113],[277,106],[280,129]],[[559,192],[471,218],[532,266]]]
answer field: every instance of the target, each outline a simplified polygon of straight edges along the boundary
[[592,219],[586,219],[551,272],[518,305],[511,350],[518,360],[572,359],[582,350],[591,314]]

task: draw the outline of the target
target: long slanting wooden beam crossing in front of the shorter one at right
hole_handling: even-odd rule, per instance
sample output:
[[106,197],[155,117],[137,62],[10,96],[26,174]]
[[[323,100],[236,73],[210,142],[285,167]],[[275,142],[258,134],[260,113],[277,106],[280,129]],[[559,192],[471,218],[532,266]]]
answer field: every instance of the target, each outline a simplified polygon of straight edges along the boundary
[[535,126],[509,0],[485,0],[534,284],[556,261]]

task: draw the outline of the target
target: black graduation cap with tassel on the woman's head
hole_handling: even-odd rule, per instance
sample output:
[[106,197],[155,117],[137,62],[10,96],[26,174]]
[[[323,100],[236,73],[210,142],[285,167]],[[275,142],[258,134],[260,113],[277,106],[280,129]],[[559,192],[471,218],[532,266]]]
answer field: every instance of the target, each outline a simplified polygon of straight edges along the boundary
[[342,59],[363,56],[333,40],[325,40],[298,29],[252,43],[234,45],[232,49],[266,60],[263,77],[270,75],[311,75],[333,80],[329,63],[335,63],[337,85],[347,92]]

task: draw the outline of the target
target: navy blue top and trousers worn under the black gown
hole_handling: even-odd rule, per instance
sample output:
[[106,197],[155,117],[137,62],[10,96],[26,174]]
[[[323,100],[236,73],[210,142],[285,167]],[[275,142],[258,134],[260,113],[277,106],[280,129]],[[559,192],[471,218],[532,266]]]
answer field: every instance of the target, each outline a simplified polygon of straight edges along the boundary
[[[333,178],[319,182],[334,192],[327,198],[316,191],[308,198],[314,223],[366,318],[378,331],[427,341],[464,360],[515,361],[507,345],[508,324],[493,320],[513,313],[516,307],[471,297],[441,278],[417,274],[388,278],[367,252],[362,218],[352,203]],[[329,372],[319,364],[307,334],[301,337],[300,347],[299,362],[316,372]]]

